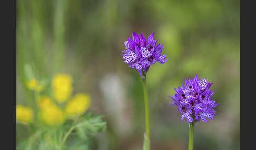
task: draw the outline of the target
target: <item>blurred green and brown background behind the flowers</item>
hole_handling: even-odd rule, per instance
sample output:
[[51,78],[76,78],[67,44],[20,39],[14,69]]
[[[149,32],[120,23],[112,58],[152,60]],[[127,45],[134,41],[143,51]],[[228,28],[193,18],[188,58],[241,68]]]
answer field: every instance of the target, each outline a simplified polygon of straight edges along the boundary
[[[91,95],[90,110],[107,122],[94,149],[142,149],[143,86],[123,62],[132,31],[155,31],[164,65],[147,73],[151,149],[187,149],[189,126],[168,95],[198,74],[214,82],[215,119],[194,128],[194,149],[240,149],[240,1],[17,0],[17,104],[26,105],[25,64],[38,78],[70,74],[74,92]],[[17,125],[17,144],[24,138]]]

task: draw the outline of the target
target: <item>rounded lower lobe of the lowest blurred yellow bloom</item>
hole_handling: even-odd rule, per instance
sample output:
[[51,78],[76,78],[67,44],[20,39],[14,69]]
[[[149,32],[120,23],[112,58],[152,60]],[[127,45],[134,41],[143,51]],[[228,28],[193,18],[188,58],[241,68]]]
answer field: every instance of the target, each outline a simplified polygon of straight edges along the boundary
[[46,125],[60,125],[65,121],[63,111],[55,104],[50,104],[42,108],[39,117]]

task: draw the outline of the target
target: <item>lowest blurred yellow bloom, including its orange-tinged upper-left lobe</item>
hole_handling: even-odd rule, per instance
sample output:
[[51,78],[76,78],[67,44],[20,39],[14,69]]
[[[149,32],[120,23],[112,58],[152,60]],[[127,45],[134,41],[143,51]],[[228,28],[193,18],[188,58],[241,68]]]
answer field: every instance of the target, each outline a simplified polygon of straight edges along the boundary
[[60,107],[55,105],[51,98],[41,97],[38,99],[40,107],[39,117],[47,125],[60,125],[65,121],[65,114]]

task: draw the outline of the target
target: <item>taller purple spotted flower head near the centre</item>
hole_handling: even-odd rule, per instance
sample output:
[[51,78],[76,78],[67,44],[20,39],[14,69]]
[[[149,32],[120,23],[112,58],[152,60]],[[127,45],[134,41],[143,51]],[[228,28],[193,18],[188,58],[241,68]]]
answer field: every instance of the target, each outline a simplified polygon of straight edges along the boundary
[[143,78],[143,73],[146,73],[156,61],[165,63],[168,60],[166,55],[161,55],[163,45],[156,45],[157,40],[153,36],[154,33],[145,39],[143,34],[139,36],[133,32],[132,39],[129,37],[124,42],[126,49],[123,51],[124,62],[129,64],[129,67],[135,68]]

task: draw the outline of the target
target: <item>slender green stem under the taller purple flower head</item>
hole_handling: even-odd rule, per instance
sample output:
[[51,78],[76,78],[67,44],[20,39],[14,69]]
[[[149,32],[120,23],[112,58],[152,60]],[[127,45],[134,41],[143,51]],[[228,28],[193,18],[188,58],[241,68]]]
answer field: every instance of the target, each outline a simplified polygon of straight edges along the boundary
[[150,140],[149,97],[147,95],[146,75],[145,75],[145,78],[143,78],[143,89],[144,89],[144,103],[145,103],[146,136]]

